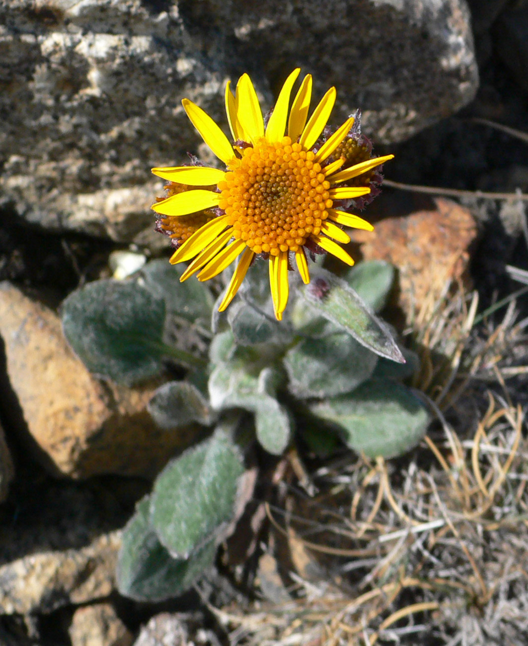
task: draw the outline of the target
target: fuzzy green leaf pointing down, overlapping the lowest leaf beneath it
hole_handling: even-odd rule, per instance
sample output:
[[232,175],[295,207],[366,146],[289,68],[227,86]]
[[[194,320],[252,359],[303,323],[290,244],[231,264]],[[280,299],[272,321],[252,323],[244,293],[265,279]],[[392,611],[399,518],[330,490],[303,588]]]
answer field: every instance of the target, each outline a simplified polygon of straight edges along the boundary
[[152,490],[150,512],[159,541],[172,556],[187,559],[221,539],[234,516],[243,472],[238,446],[222,426],[167,464]]

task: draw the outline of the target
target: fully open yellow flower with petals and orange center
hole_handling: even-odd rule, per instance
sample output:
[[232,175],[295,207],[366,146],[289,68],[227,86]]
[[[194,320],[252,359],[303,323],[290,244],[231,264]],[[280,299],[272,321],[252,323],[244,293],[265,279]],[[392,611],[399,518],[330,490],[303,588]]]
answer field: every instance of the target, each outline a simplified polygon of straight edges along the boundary
[[191,187],[152,206],[164,216],[165,229],[170,229],[169,218],[207,209],[218,213],[199,226],[170,258],[172,264],[194,258],[180,280],[198,271],[198,280],[209,280],[240,256],[219,311],[236,295],[254,256],[261,254],[269,260],[274,311],[281,320],[289,295],[290,255],[295,256],[301,278],[308,284],[305,249],[320,248],[352,265],[354,260],[338,244],[347,244],[350,237],[338,225],[373,229],[362,218],[335,208],[334,202],[370,193],[368,186],[347,184],[393,155],[351,166],[342,154],[330,161],[349,134],[354,118],[347,119],[320,145],[336,89],[328,90],[308,119],[312,94],[309,74],[289,110],[299,72],[294,70],[286,79],[266,127],[249,76],[241,76],[235,94],[227,84],[225,107],[234,143],[198,105],[183,99],[188,118],[227,170],[202,166],[152,169],[169,182]]

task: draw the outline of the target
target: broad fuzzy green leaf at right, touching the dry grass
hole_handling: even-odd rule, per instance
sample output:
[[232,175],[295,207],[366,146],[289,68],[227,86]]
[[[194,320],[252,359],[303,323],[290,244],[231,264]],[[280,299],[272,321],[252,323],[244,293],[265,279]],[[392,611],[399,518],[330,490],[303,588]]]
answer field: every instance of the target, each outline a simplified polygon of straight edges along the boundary
[[392,380],[371,379],[353,393],[310,405],[333,422],[350,448],[369,457],[395,457],[425,434],[429,414],[409,388]]

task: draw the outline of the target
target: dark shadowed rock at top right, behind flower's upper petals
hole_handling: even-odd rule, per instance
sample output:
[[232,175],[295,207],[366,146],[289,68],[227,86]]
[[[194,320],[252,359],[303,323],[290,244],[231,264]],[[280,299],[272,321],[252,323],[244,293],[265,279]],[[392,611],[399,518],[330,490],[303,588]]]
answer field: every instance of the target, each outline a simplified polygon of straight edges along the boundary
[[196,23],[227,29],[272,87],[294,65],[314,74],[318,96],[335,85],[334,118],[360,108],[365,134],[378,143],[456,112],[478,86],[465,0],[332,0],[323,11],[318,0],[211,0],[192,8]]

